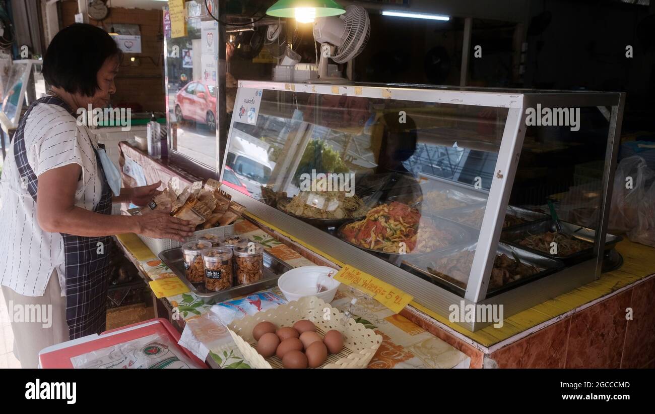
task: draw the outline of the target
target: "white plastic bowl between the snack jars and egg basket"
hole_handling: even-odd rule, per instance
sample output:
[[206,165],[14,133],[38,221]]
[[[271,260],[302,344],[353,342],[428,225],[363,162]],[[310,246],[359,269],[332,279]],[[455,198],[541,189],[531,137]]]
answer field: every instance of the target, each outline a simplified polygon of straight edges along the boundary
[[327,266],[301,266],[291,269],[278,278],[278,288],[288,301],[296,301],[305,296],[316,296],[330,303],[339,288],[339,281],[333,278],[322,278],[327,290],[316,293],[318,276],[337,273],[336,269]]

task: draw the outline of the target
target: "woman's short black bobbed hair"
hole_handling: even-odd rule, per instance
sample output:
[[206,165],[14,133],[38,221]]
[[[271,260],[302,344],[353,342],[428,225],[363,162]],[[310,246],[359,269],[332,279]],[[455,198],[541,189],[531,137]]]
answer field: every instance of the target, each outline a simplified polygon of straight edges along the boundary
[[71,94],[93,96],[97,75],[111,56],[122,58],[109,33],[90,24],[75,23],[57,33],[43,58],[43,77],[50,86]]

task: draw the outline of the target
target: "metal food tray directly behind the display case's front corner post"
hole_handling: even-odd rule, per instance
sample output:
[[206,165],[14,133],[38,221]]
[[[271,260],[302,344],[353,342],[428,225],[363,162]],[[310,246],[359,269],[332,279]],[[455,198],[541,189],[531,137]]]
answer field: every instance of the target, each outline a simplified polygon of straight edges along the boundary
[[[443,273],[436,274],[438,270],[435,268],[438,266],[437,263],[439,260],[446,259],[447,257],[453,257],[453,264],[462,263],[462,258],[458,257],[457,255],[464,251],[475,252],[475,250],[476,244],[470,244],[463,247],[459,246],[457,248],[444,250],[443,252],[438,252],[435,254],[422,255],[416,258],[405,259],[402,262],[401,267],[413,274],[421,276],[421,278],[424,278],[425,280],[438,284],[443,288],[446,288],[447,290],[450,290],[451,292],[457,293],[458,295],[464,297],[464,293],[466,293],[466,283],[468,282],[468,273],[470,273],[470,267],[466,267],[468,273],[465,275],[460,274],[458,276],[448,276]],[[498,243],[496,255],[502,254],[506,255],[514,262],[516,259],[518,259],[518,261],[524,265],[537,267],[540,269],[540,271],[538,271],[538,273],[530,274],[529,276],[522,276],[521,278],[517,278],[515,280],[502,282],[502,284],[499,286],[490,286],[489,290],[487,290],[487,297],[496,295],[501,292],[506,292],[515,286],[525,284],[531,280],[536,280],[538,278],[548,276],[549,274],[553,274],[564,267],[564,263],[557,259],[552,259],[542,254],[529,252],[528,250],[510,246],[509,244]],[[473,260],[472,255],[470,256],[470,260]],[[435,269],[433,270],[435,273],[430,272],[428,269]],[[494,269],[496,269],[496,267],[494,267]],[[502,273],[499,274],[502,275]],[[489,276],[490,285],[493,283],[493,276],[494,273],[492,273],[492,276]]]

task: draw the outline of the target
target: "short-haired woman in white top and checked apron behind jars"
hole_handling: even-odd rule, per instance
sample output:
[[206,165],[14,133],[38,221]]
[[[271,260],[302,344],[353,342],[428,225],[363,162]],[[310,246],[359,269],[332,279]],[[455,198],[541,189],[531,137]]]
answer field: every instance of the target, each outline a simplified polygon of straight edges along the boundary
[[[5,159],[0,284],[22,367],[37,367],[45,347],[104,330],[112,235],[193,234],[188,221],[165,213],[111,216],[112,202],[143,206],[160,185],[121,189],[102,145],[77,121],[78,109],[109,104],[120,63],[121,50],[100,28],[57,33],[43,60],[48,96],[22,116]],[[39,306],[46,312],[38,321],[14,317],[33,305],[51,306]]]

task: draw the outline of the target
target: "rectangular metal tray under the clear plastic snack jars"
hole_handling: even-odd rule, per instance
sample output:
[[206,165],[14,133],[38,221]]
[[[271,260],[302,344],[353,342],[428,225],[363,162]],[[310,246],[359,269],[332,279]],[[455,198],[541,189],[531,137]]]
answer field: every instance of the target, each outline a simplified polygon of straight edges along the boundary
[[187,280],[184,274],[184,259],[181,248],[177,247],[164,250],[163,252],[160,252],[159,258],[164,262],[164,264],[166,264],[166,266],[170,267],[170,270],[175,273],[185,285],[187,285],[191,292],[200,297],[204,303],[209,304],[227,301],[234,297],[250,295],[251,293],[277,286],[278,278],[286,271],[291,270],[290,266],[264,250],[264,276],[261,280],[214,292],[206,290],[202,283],[194,284]]

